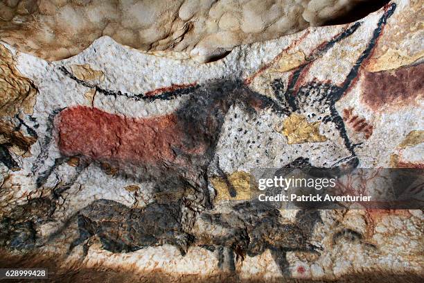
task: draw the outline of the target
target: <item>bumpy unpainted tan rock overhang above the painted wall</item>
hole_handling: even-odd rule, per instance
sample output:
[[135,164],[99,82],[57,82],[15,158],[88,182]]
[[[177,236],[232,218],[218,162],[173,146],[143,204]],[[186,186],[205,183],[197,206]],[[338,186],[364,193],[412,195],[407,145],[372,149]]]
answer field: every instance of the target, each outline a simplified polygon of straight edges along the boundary
[[69,58],[107,35],[143,51],[186,51],[204,61],[321,25],[360,1],[3,0],[0,37],[47,60]]

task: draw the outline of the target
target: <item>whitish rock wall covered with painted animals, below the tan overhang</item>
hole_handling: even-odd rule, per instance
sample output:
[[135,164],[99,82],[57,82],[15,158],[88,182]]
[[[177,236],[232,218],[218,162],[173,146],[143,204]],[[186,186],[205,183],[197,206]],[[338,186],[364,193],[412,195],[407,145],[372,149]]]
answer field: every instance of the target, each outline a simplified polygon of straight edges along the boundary
[[107,36],[55,62],[1,43],[0,246],[177,281],[422,279],[422,210],[246,188],[252,167],[423,168],[423,15],[397,0],[207,64]]

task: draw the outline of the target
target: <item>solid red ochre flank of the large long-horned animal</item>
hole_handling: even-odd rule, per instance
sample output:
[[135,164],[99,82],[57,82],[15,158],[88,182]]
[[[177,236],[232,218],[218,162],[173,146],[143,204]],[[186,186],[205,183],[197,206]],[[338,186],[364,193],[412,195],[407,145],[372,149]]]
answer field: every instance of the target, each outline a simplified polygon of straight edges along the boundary
[[76,106],[60,113],[58,146],[63,155],[85,155],[94,160],[117,162],[173,162],[174,149],[188,151],[175,114],[134,119],[96,108]]

